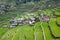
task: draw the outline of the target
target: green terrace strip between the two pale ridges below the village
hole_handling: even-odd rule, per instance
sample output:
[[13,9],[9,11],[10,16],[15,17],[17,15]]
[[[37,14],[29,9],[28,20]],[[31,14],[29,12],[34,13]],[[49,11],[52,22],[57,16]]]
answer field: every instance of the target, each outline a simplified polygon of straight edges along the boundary
[[35,40],[43,40],[43,34],[42,34],[42,29],[40,26],[40,22],[37,22],[34,25],[34,35],[35,35]]

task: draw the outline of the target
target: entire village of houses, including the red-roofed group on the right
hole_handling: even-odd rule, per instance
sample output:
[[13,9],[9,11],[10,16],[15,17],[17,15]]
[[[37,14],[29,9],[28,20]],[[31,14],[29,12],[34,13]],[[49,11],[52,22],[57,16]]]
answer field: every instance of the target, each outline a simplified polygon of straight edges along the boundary
[[[43,15],[41,14],[38,18],[37,18],[39,21],[46,21],[48,22],[49,21],[49,17],[46,16],[46,15]],[[37,20],[35,17],[32,17],[32,18],[28,18],[28,19],[24,19],[24,18],[12,18],[10,20],[10,28],[14,28],[16,26],[23,26],[23,25],[26,25],[26,24],[29,24],[31,26],[34,26],[34,24],[36,23],[36,20]],[[4,27],[7,27],[7,25],[4,25]]]

